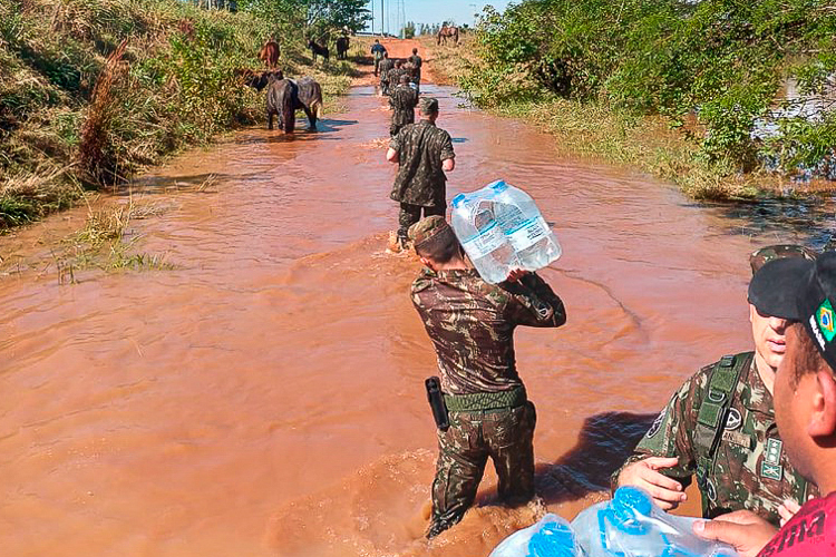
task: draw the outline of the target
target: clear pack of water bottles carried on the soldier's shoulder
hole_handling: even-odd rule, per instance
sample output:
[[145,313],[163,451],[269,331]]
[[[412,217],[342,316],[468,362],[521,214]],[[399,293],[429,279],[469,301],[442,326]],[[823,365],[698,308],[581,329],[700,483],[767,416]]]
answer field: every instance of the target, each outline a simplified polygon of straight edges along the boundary
[[543,268],[562,253],[534,199],[503,180],[454,197],[450,225],[476,271],[492,284],[514,268]]

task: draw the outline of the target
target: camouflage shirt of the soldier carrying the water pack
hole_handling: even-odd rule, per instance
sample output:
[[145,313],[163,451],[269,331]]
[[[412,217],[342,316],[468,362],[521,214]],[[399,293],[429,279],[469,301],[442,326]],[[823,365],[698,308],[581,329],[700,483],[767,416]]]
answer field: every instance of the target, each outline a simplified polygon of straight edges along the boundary
[[425,268],[412,303],[436,349],[446,394],[499,392],[523,384],[516,370],[517,325],[560,326],[563,302],[532,273],[517,283],[488,284],[475,270]]

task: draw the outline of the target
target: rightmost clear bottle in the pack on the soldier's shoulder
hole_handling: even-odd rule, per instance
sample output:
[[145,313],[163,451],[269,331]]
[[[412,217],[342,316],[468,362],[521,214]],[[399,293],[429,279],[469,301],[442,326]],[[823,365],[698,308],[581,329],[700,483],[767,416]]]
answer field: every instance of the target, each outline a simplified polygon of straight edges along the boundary
[[563,251],[534,199],[503,180],[487,185],[493,190],[494,215],[517,252],[519,265],[537,271],[556,261]]

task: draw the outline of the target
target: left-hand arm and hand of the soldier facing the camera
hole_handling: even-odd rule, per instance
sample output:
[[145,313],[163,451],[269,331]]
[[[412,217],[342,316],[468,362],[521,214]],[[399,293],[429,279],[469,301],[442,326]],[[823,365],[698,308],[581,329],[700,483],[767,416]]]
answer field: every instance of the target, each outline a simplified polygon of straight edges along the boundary
[[686,500],[683,491],[696,470],[691,431],[697,420],[694,399],[700,384],[698,373],[673,394],[633,455],[613,472],[613,490],[625,485],[642,487],[665,510]]

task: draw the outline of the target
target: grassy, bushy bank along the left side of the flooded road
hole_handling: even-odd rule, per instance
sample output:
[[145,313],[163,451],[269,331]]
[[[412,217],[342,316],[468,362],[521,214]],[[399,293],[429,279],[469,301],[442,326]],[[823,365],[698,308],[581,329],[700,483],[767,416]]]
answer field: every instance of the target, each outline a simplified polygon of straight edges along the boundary
[[[0,0],[0,233],[118,185],[166,155],[261,123],[244,69],[274,36],[289,76],[344,91],[347,61],[310,67],[305,35],[362,26],[358,0]],[[301,18],[301,19],[300,19]]]

